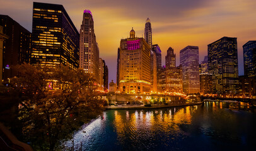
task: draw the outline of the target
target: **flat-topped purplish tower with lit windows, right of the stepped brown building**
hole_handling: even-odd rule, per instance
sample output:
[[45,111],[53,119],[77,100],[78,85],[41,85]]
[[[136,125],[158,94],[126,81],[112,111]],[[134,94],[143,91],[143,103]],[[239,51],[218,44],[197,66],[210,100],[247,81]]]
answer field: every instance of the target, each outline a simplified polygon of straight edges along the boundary
[[182,65],[183,92],[185,94],[200,92],[199,48],[187,46],[180,50],[180,65]]

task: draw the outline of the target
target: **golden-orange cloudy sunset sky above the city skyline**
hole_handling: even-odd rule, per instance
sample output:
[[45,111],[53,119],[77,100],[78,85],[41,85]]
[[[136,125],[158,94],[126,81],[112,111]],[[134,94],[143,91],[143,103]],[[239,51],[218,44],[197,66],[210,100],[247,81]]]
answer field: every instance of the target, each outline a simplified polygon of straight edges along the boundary
[[[32,31],[30,0],[0,0],[0,14],[6,14]],[[187,45],[199,46],[200,62],[207,55],[207,45],[223,36],[237,37],[239,75],[243,75],[243,48],[256,40],[255,0],[52,0],[37,1],[62,4],[74,25],[80,30],[83,10],[90,9],[95,23],[100,57],[108,65],[109,81],[115,81],[117,48],[133,27],[144,36],[146,19],[151,20],[153,44],[162,50],[162,65],[168,47],[179,52]]]

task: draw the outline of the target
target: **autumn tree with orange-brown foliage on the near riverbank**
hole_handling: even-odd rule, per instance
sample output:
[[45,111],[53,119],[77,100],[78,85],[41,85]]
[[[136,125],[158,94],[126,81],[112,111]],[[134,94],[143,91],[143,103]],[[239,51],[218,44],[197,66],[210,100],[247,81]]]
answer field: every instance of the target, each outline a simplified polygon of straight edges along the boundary
[[35,150],[54,150],[58,140],[103,111],[95,79],[83,69],[67,66],[39,67],[23,64],[11,86],[18,92],[23,108],[19,111],[25,140]]

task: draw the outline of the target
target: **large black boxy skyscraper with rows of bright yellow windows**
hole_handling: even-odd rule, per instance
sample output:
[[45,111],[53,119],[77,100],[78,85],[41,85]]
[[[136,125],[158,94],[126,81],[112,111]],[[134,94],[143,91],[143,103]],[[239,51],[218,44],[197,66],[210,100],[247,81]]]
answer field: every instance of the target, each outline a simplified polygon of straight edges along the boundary
[[31,63],[79,65],[79,33],[59,4],[33,3]]

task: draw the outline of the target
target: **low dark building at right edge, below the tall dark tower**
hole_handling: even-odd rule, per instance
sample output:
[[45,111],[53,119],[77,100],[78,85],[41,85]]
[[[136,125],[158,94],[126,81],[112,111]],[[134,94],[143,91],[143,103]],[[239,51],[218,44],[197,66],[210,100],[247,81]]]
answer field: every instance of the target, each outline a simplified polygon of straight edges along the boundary
[[239,76],[239,94],[243,97],[256,96],[256,78]]

